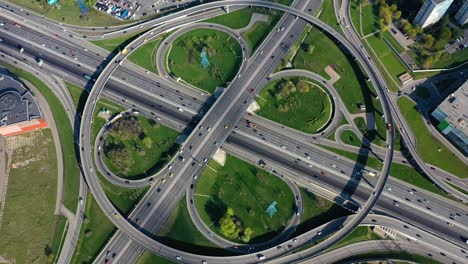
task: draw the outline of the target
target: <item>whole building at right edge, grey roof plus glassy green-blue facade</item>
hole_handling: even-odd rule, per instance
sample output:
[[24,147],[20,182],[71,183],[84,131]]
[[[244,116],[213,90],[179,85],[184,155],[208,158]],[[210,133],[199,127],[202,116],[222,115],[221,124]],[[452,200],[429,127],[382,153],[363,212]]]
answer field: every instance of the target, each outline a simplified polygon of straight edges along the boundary
[[449,95],[431,114],[437,126],[465,156],[468,155],[468,81]]

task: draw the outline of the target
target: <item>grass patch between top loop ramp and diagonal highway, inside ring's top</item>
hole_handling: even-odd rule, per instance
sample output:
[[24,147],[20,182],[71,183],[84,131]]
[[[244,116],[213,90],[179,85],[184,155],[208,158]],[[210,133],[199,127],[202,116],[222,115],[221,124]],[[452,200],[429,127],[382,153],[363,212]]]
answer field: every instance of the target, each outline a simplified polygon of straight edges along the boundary
[[268,10],[262,8],[254,8],[256,13],[268,15],[268,22],[257,21],[251,28],[242,33],[250,52],[253,52],[262,44],[263,40],[268,36],[276,23],[280,20],[282,12],[276,10]]

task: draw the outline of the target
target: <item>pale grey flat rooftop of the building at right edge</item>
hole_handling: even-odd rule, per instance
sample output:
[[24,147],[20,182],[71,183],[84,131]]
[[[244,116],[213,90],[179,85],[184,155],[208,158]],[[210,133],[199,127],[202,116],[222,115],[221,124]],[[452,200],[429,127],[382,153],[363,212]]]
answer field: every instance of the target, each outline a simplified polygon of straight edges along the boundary
[[445,119],[454,128],[468,135],[468,80],[458,90],[440,103],[439,107],[446,115]]

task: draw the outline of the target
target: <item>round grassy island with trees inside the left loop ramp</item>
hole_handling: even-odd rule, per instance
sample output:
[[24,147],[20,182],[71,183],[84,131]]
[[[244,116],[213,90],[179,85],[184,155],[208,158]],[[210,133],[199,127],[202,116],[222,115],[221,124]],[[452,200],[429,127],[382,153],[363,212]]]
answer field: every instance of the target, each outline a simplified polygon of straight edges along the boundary
[[178,132],[143,116],[116,117],[104,128],[108,130],[98,147],[107,169],[116,176],[145,178],[159,171],[177,151]]

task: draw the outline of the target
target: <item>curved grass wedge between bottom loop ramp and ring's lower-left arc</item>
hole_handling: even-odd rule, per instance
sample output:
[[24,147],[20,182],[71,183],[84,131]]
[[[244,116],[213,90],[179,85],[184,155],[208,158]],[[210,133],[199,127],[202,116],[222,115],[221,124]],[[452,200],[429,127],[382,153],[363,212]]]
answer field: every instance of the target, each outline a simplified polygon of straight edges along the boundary
[[198,231],[187,210],[185,196],[174,208],[156,237],[158,241],[185,252],[213,256],[230,255],[229,251],[212,243]]

